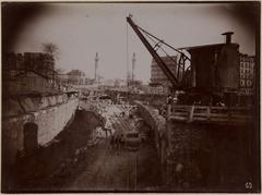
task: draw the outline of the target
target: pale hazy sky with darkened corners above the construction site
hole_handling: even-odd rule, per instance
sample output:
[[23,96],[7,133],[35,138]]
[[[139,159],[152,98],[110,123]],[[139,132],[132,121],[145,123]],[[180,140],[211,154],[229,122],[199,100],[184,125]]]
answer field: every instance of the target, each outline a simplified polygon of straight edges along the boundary
[[[57,68],[79,69],[94,77],[95,53],[98,74],[126,78],[136,54],[135,78],[150,81],[152,57],[128,25],[133,21],[175,48],[222,44],[222,33],[235,32],[240,52],[255,54],[255,31],[245,7],[228,3],[49,3],[20,28],[14,52],[39,52],[44,42],[59,48]],[[249,12],[247,12],[248,14]],[[176,54],[169,52],[169,54]]]

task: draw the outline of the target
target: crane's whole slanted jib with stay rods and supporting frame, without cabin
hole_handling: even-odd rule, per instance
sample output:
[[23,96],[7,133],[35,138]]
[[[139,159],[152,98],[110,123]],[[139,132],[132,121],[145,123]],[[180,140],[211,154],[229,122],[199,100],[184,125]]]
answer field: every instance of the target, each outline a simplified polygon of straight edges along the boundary
[[[153,59],[156,61],[156,63],[158,64],[158,66],[160,68],[160,70],[164,72],[164,74],[166,75],[166,77],[168,78],[168,81],[171,83],[172,88],[180,88],[182,83],[183,83],[183,75],[186,75],[184,73],[187,73],[188,71],[184,70],[184,64],[186,64],[186,60],[190,59],[181,51],[179,51],[178,49],[171,47],[170,45],[166,44],[164,40],[160,40],[159,38],[155,37],[154,35],[150,34],[148,32],[144,31],[143,28],[141,28],[140,26],[138,26],[133,21],[132,21],[132,15],[130,14],[129,16],[127,16],[127,22],[129,23],[129,25],[132,27],[132,29],[135,32],[135,34],[139,36],[140,40],[144,44],[144,46],[146,47],[146,49],[148,50],[148,52],[151,53],[151,56],[153,57]],[[144,37],[144,35],[142,34],[145,33],[147,36],[158,40],[158,42],[152,47],[151,44],[147,41],[147,39]],[[165,63],[165,61],[159,57],[159,54],[156,52],[162,45],[166,45],[167,47],[171,48],[172,50],[177,51],[178,53],[180,53],[180,59],[178,62],[178,69],[177,69],[177,74],[174,75],[174,73],[170,71],[170,69],[167,66],[167,64]],[[164,50],[163,50],[164,51]],[[165,51],[164,51],[165,52]],[[166,52],[165,52],[166,53]],[[167,54],[167,53],[166,53]],[[170,57],[170,60],[174,60]],[[181,71],[182,70],[182,71]],[[188,68],[189,70],[189,68]],[[182,75],[179,75],[180,72],[182,72]]]

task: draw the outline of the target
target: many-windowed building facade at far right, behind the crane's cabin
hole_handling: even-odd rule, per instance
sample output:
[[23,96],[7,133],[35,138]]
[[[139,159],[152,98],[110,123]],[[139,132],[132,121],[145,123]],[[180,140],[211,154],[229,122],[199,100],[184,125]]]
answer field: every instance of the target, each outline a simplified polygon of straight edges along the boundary
[[255,57],[240,53],[240,93],[242,95],[253,95],[255,77]]

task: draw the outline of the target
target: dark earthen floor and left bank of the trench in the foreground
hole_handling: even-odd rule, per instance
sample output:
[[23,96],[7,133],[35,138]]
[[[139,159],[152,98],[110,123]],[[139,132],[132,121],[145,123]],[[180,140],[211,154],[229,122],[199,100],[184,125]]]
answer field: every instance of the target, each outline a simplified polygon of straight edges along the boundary
[[48,146],[17,157],[12,192],[159,190],[154,143],[147,141],[138,153],[112,149],[109,137],[90,145],[92,132],[100,122],[94,113],[78,110],[71,125]]

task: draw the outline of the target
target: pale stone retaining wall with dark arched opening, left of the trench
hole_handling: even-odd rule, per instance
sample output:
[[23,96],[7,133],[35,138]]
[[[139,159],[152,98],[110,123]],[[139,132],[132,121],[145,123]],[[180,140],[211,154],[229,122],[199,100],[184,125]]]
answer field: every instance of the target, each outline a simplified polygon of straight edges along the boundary
[[[37,143],[43,146],[60,133],[74,117],[79,105],[78,97],[59,95],[48,97],[16,97],[3,103],[2,142],[3,160],[13,164],[17,151],[24,150],[24,125],[37,126]],[[7,109],[7,108],[5,108]]]

